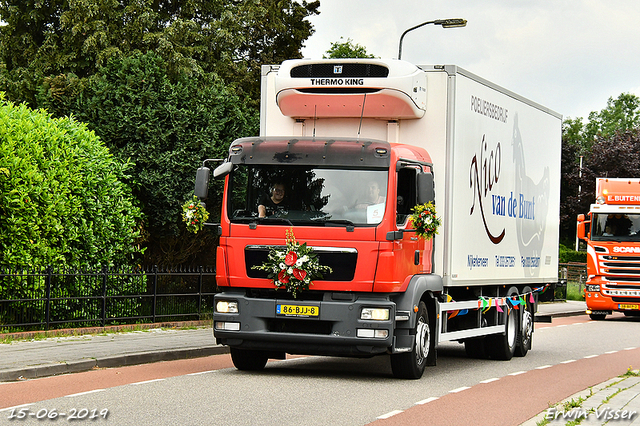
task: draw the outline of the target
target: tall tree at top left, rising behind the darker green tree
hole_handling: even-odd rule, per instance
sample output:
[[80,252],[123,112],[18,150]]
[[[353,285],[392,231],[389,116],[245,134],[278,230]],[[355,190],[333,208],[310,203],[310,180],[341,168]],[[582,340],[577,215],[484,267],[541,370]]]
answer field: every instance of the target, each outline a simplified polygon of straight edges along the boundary
[[257,105],[260,66],[301,57],[319,1],[0,0],[0,89],[35,106],[40,82],[157,53],[170,77],[217,73]]

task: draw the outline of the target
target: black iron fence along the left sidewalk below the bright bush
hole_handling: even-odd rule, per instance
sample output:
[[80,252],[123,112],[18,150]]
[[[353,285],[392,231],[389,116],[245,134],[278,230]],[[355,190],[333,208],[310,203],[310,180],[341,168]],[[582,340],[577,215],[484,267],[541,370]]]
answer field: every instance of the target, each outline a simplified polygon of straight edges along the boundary
[[205,319],[215,291],[211,267],[0,267],[0,331]]

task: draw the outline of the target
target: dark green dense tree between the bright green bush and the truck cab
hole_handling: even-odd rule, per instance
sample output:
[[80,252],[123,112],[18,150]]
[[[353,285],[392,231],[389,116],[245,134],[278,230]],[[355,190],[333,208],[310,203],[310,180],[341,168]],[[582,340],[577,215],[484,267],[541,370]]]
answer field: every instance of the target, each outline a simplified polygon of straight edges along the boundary
[[[89,123],[121,161],[135,163],[132,186],[146,215],[148,262],[191,261],[200,247],[213,244],[212,233],[186,232],[181,206],[193,194],[204,159],[225,158],[234,139],[258,132],[257,116],[233,90],[211,73],[172,82],[162,58],[146,53],[110,59],[70,105],[49,101],[50,109]],[[217,216],[220,187],[211,199]]]

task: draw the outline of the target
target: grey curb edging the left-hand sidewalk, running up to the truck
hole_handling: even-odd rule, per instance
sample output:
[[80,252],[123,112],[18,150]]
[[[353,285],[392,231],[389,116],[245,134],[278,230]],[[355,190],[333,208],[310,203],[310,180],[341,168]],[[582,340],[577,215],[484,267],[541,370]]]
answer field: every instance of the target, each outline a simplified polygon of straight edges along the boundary
[[97,359],[86,359],[61,364],[46,364],[0,371],[0,382],[35,379],[56,376],[59,374],[80,373],[96,368],[125,367],[130,365],[148,364],[159,361],[176,361],[179,359],[199,358],[226,353],[229,353],[228,347],[216,345],[200,348],[115,355]]

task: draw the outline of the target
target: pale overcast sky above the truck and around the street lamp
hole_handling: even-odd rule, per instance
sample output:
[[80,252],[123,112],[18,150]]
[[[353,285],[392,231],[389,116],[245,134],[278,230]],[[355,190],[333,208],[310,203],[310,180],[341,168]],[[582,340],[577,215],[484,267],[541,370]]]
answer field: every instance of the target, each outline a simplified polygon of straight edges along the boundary
[[586,119],[623,92],[640,96],[638,0],[320,0],[320,12],[309,19],[307,58],[340,37],[397,58],[406,29],[464,18],[465,28],[408,33],[402,59],[458,65],[564,118]]

